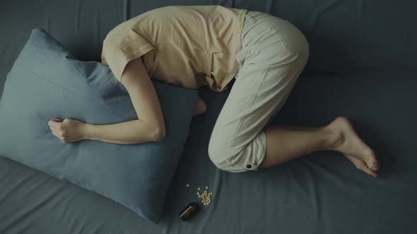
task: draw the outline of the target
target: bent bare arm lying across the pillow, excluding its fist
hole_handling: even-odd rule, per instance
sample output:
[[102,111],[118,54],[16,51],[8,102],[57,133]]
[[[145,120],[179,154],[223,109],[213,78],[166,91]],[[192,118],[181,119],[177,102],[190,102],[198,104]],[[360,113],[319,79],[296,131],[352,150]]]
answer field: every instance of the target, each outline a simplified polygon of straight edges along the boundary
[[[140,119],[107,125],[86,125],[86,139],[138,144],[165,138],[165,123],[155,88],[141,57],[127,63],[121,78]],[[139,115],[140,113],[140,115]]]

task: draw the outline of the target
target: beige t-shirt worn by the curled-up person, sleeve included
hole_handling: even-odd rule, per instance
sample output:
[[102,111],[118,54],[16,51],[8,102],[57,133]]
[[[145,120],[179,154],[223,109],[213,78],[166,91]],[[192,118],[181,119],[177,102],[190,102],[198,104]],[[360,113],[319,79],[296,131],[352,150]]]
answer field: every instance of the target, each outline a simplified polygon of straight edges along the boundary
[[102,64],[121,81],[129,61],[142,56],[151,78],[195,90],[227,90],[237,73],[235,56],[246,9],[165,6],[112,29],[102,46]]

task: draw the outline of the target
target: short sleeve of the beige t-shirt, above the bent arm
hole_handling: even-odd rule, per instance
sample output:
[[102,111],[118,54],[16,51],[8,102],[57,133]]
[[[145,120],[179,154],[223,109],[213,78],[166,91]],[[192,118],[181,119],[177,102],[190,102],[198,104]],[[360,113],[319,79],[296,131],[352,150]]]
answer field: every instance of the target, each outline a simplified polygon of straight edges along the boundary
[[110,31],[102,44],[101,63],[109,66],[116,79],[122,82],[127,63],[153,49],[152,44],[132,29]]

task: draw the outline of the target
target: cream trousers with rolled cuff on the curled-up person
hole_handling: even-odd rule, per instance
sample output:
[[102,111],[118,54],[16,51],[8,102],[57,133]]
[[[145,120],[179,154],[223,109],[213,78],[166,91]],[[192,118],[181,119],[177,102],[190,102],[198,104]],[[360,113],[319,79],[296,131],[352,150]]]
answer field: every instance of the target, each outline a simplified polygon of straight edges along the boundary
[[287,20],[248,11],[240,67],[214,125],[209,157],[223,171],[257,171],[265,156],[262,130],[281,109],[307,63],[309,46]]

